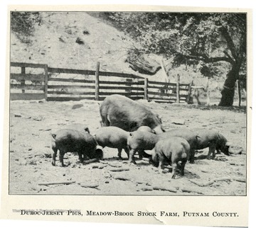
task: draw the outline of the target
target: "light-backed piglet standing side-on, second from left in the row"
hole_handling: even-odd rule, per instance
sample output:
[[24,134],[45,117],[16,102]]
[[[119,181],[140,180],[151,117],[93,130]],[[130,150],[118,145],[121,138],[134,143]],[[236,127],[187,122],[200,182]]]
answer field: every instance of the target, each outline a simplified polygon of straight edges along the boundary
[[127,137],[129,132],[122,130],[119,127],[101,127],[95,132],[95,139],[97,144],[101,147],[112,147],[118,149],[118,157],[122,159],[122,149],[129,157],[129,149],[127,147]]

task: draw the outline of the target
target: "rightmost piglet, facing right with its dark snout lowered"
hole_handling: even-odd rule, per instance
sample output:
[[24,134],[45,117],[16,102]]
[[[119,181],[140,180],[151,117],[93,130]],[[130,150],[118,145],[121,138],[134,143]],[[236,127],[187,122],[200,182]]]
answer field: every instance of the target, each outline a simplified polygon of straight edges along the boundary
[[230,144],[228,140],[215,130],[208,130],[203,128],[193,129],[198,135],[198,142],[196,144],[196,149],[205,149],[209,147],[209,152],[207,159],[210,159],[210,154],[213,154],[213,159],[215,158],[215,151],[218,153],[223,152],[225,155],[230,155],[229,147]]

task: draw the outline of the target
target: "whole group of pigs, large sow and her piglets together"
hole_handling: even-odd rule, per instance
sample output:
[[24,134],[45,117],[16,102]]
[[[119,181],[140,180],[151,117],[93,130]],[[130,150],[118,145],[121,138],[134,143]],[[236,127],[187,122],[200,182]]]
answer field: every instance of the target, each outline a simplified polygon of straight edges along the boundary
[[100,105],[100,116],[102,127],[94,135],[90,135],[88,127],[81,129],[80,125],[65,127],[52,134],[53,166],[58,150],[60,165],[64,166],[66,152],[77,152],[80,162],[83,162],[86,159],[102,159],[101,148],[112,147],[118,149],[119,159],[122,159],[124,149],[133,164],[136,164],[135,153],[140,159],[149,157],[149,161],[159,169],[168,162],[172,166],[171,177],[174,178],[177,168],[183,176],[186,161],[194,162],[197,149],[208,147],[207,159],[211,154],[214,158],[215,151],[229,155],[228,141],[220,133],[207,129],[165,131],[159,115],[125,96],[115,94],[105,98]]

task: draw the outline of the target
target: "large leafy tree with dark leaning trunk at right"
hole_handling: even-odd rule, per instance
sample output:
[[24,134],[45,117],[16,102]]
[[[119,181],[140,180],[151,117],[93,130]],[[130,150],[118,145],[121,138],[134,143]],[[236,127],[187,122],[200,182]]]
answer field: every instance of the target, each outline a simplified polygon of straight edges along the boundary
[[[235,81],[246,62],[246,13],[110,13],[137,40],[140,52],[169,58],[174,65],[228,62],[219,106],[233,106]],[[138,51],[137,51],[138,52]],[[243,72],[244,74],[244,72]]]

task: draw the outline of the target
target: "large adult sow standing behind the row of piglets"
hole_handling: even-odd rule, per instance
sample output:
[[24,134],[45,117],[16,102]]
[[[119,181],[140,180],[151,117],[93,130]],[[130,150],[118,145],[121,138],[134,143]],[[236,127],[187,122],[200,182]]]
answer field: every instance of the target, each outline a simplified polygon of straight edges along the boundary
[[141,126],[148,126],[156,134],[164,132],[161,119],[148,107],[131,99],[114,94],[105,98],[100,106],[104,126],[115,126],[133,132]]

